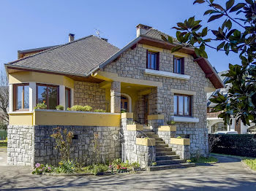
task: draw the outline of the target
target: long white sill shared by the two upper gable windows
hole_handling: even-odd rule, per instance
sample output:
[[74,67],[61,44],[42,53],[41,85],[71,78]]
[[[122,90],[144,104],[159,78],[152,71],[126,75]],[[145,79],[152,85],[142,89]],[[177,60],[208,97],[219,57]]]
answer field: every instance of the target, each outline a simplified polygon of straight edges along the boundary
[[185,74],[176,74],[173,72],[159,71],[159,70],[152,70],[152,69],[145,69],[144,74],[151,74],[159,77],[170,77],[170,78],[184,79],[184,80],[190,79],[190,76]]

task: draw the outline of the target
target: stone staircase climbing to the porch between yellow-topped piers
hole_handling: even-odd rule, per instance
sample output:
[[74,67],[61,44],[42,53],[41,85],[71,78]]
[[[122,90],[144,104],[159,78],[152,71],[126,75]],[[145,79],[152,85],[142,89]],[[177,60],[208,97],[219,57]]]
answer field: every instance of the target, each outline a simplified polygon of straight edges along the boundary
[[160,171],[173,168],[187,168],[195,166],[195,163],[187,163],[186,160],[180,159],[176,152],[165,143],[159,136],[149,127],[144,126],[143,133],[148,138],[155,139],[156,142],[156,162],[157,165],[149,166],[148,171]]

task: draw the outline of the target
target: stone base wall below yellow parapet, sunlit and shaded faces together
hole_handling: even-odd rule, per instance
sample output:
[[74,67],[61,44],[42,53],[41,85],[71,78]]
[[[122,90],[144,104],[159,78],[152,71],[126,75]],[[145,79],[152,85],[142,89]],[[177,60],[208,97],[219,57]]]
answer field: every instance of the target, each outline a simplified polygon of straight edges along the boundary
[[[116,139],[120,127],[59,126],[72,130],[77,139],[72,140],[71,158],[89,163],[95,155],[94,136],[97,135],[100,159],[113,160],[121,157],[121,141]],[[34,165],[48,163],[57,165],[61,160],[55,140],[50,137],[56,126],[8,126],[8,164]]]

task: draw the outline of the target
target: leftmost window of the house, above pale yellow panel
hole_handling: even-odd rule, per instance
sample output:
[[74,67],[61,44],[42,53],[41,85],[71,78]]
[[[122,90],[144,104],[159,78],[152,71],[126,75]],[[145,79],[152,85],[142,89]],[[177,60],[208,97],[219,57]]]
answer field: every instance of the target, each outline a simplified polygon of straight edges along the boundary
[[29,109],[29,84],[13,85],[14,110]]

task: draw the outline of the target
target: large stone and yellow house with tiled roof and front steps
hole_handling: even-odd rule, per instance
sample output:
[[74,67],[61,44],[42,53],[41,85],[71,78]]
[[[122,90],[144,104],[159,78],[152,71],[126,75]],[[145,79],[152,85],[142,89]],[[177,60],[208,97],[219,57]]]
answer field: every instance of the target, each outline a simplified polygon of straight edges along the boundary
[[[57,126],[73,130],[72,156],[80,159],[94,156],[95,137],[103,159],[122,157],[142,166],[157,161],[172,168],[208,155],[206,93],[224,87],[222,80],[193,48],[171,53],[177,42],[163,41],[166,34],[142,24],[136,28],[137,37],[121,49],[86,36],[5,65],[10,165],[58,163],[50,138]],[[47,109],[34,109],[42,101]],[[92,110],[67,111],[74,105]],[[170,120],[176,125],[167,125]]]

